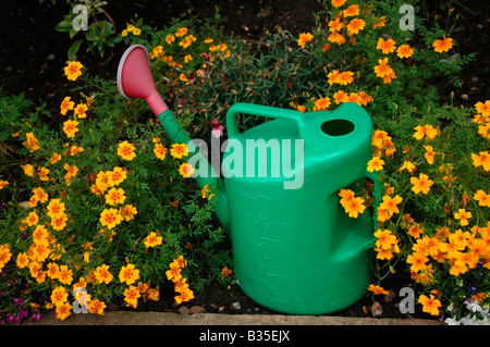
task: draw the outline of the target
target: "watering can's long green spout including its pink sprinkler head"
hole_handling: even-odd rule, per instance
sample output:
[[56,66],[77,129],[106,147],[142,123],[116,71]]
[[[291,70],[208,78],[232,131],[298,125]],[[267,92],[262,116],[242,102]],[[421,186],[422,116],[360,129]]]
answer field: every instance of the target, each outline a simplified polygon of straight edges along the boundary
[[[117,82],[119,92],[123,97],[146,100],[173,144],[188,145],[192,141],[188,134],[182,128],[167,103],[158,94],[149,66],[149,54],[144,46],[132,45],[126,49],[119,62]],[[213,210],[221,226],[224,230],[229,230],[228,198],[223,182],[200,151],[196,156],[199,157],[199,173],[204,174],[196,176],[195,179],[201,188],[206,185],[208,187],[215,187],[213,193],[216,196],[213,199],[216,199],[216,203]],[[203,165],[205,168],[201,168]]]

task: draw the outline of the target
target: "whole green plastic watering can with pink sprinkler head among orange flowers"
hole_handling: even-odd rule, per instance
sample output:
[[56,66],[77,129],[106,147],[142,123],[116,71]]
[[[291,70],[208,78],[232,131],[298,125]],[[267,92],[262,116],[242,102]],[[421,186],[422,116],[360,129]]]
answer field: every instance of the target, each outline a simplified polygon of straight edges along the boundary
[[[158,95],[149,58],[131,46],[118,69],[124,97],[145,99],[173,142],[188,144]],[[238,114],[273,119],[240,133]],[[226,113],[229,139],[221,179],[197,151],[197,183],[215,186],[215,212],[230,231],[234,274],[256,302],[278,312],[326,314],[355,303],[371,281],[369,262],[377,216],[348,218],[339,190],[373,182],[375,209],[381,184],[366,171],[372,158],[372,122],[358,104],[301,113],[236,103]]]

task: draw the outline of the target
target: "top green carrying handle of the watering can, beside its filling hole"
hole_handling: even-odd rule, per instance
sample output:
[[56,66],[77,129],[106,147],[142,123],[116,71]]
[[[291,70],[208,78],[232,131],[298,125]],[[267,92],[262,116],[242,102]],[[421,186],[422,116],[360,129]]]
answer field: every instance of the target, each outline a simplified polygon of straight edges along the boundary
[[297,125],[299,138],[303,138],[302,129],[304,127],[304,122],[302,113],[299,111],[244,102],[233,104],[226,112],[226,131],[229,138],[240,137],[238,121],[236,117],[237,113],[246,113],[252,115],[292,121]]

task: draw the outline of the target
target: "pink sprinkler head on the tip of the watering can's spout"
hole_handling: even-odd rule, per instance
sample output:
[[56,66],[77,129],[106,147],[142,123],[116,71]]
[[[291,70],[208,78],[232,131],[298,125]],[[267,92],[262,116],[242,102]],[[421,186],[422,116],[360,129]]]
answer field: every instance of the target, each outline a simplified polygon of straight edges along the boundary
[[130,46],[118,66],[118,88],[125,98],[145,99],[156,115],[168,107],[157,91],[149,66],[149,55],[142,45]]

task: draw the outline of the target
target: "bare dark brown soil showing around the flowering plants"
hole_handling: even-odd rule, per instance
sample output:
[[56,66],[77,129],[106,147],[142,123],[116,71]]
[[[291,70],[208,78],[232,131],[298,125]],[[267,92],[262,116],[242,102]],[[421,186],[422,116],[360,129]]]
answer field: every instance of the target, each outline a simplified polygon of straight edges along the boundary
[[[478,52],[474,62],[466,65],[461,74],[463,87],[454,89],[445,80],[436,82],[443,100],[449,100],[451,91],[455,92],[455,104],[474,106],[477,101],[490,99],[490,57],[488,55],[488,37],[490,28],[490,2],[481,0],[460,1],[424,1],[427,8],[420,16],[442,14],[439,23],[443,22],[450,7],[460,14],[457,30],[452,37],[457,41],[457,51],[462,53]],[[430,4],[429,4],[430,2]],[[315,25],[314,13],[321,10],[316,0],[121,0],[110,1],[107,12],[115,21],[118,32],[137,14],[148,25],[162,28],[173,17],[188,17],[197,15],[201,18],[212,16],[215,7],[226,18],[224,32],[226,34],[257,39],[264,35],[265,28],[272,32],[277,25],[290,30],[293,35],[309,32]],[[73,84],[62,75],[66,61],[66,51],[71,40],[66,33],[58,33],[54,25],[69,13],[65,1],[59,0],[52,5],[50,0],[40,3],[39,0],[8,1],[2,3],[0,23],[3,34],[0,38],[0,76],[3,91],[7,95],[25,92],[34,102],[46,102],[53,114],[58,114],[60,100],[69,95]],[[7,29],[7,30],[5,30]],[[83,62],[90,70],[90,74],[115,79],[119,58],[125,47],[115,47],[112,55],[101,59],[98,53],[84,55]],[[383,283],[385,289],[395,294],[409,283],[406,273],[399,270],[390,282]],[[142,302],[139,310],[179,310],[173,307],[173,290],[162,290],[161,301],[157,303]],[[385,302],[383,296],[377,298],[383,306],[382,317],[430,318],[419,311],[413,315],[401,314],[397,308],[400,297]],[[233,308],[240,302],[240,309]],[[187,306],[200,306],[207,312],[221,313],[273,313],[272,311],[250,300],[237,285],[230,289],[222,285],[212,285],[200,293]],[[369,308],[372,305],[370,295],[362,298],[357,303],[335,314],[347,317],[371,317]],[[120,309],[112,305],[109,309]],[[185,313],[185,312],[184,312]]]

